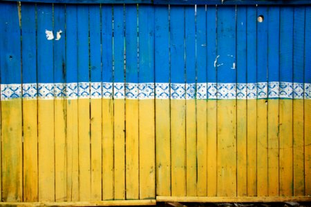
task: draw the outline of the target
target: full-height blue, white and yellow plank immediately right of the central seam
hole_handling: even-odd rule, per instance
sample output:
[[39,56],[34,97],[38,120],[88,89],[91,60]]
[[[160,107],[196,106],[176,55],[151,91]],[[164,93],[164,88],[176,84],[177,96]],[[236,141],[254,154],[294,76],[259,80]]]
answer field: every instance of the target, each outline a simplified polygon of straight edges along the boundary
[[156,194],[171,195],[169,7],[155,7]]

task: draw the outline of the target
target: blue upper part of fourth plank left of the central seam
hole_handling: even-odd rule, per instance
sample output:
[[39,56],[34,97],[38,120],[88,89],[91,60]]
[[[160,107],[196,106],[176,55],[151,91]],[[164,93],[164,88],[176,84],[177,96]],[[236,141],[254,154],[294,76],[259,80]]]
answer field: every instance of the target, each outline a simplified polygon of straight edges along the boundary
[[113,81],[113,14],[111,5],[102,5],[102,81]]

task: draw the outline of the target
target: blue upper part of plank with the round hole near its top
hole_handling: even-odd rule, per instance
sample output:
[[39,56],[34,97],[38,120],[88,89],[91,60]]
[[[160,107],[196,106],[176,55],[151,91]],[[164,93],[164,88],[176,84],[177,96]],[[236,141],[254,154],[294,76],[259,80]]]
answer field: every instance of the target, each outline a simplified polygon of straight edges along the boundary
[[[257,82],[267,82],[267,19],[269,17],[266,6],[258,6],[258,17],[263,17],[263,21],[257,21]],[[263,94],[258,91],[257,95]]]

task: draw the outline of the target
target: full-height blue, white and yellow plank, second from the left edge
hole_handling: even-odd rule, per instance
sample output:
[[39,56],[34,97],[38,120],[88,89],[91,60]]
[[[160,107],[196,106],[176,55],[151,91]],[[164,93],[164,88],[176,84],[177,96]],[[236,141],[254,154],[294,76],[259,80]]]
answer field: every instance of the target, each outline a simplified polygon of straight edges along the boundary
[[[37,50],[35,4],[21,5],[23,64],[23,201],[38,201]],[[35,91],[32,97],[31,90]]]

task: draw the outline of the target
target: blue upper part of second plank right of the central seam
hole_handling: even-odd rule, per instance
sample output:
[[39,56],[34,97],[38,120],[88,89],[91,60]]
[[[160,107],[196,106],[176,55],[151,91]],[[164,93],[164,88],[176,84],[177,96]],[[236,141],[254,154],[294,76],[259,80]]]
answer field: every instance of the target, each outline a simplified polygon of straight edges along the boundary
[[185,8],[171,6],[170,17],[171,83],[185,83]]

